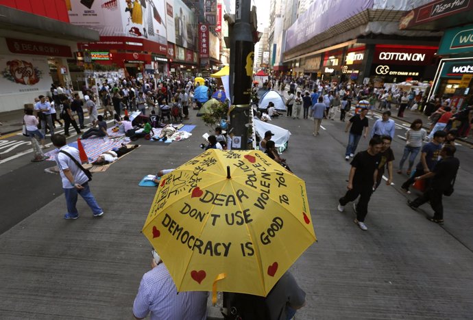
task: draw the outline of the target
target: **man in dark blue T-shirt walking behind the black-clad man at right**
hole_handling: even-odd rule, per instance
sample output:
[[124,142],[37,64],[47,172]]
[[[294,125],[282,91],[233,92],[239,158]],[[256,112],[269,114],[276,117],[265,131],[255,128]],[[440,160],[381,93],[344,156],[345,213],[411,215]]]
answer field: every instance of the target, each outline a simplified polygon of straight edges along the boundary
[[[407,194],[410,194],[409,187],[414,183],[417,176],[423,176],[424,174],[433,170],[439,159],[441,145],[445,142],[447,133],[445,131],[437,131],[433,135],[431,142],[422,147],[420,154],[420,161],[415,167],[415,172],[407,181],[405,181],[401,189]],[[424,180],[424,179],[423,179]],[[426,180],[426,187],[428,187],[428,180]]]

